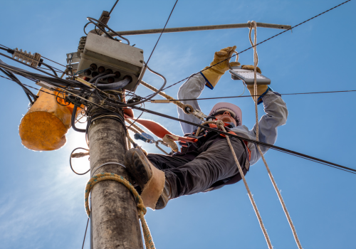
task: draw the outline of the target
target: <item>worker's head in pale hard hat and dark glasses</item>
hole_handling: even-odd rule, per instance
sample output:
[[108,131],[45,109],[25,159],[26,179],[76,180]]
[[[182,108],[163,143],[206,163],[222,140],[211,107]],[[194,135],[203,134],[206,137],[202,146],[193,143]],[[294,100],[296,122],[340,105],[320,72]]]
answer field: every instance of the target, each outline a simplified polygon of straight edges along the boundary
[[220,102],[214,105],[211,109],[209,116],[216,117],[216,120],[221,120],[226,123],[232,123],[235,126],[242,125],[242,112],[241,109],[227,102]]

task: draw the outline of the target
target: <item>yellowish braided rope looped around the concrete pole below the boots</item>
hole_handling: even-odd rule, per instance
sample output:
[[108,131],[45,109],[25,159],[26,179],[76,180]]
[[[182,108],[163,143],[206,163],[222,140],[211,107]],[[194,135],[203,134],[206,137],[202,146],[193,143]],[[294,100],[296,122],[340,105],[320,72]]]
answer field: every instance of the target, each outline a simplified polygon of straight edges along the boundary
[[155,244],[153,243],[152,240],[150,228],[148,228],[147,222],[145,220],[145,214],[147,213],[147,209],[145,208],[145,205],[142,201],[140,194],[137,193],[134,186],[132,186],[132,184],[130,184],[130,182],[127,181],[122,176],[113,173],[100,173],[100,174],[95,174],[92,178],[90,178],[87,185],[85,186],[85,194],[84,194],[84,206],[85,206],[85,211],[88,214],[88,217],[90,218],[90,208],[89,208],[90,191],[93,189],[93,186],[95,184],[98,184],[98,182],[100,181],[106,181],[106,180],[117,181],[120,184],[123,184],[125,187],[127,187],[127,189],[130,190],[132,195],[135,197],[135,201],[137,203],[138,215],[141,220],[142,231],[145,238],[146,249],[155,249]]

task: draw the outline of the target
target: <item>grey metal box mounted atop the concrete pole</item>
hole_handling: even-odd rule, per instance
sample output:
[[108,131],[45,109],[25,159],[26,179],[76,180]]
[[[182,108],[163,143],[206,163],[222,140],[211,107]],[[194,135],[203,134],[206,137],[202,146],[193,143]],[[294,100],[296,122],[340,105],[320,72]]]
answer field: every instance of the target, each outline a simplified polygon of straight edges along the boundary
[[[122,80],[125,75],[132,77],[132,82],[125,90],[135,90],[137,80],[143,68],[143,51],[119,41],[112,40],[95,33],[88,33],[83,52],[80,53],[78,72],[90,68],[91,64],[99,68],[103,66],[105,70],[111,69],[113,73],[120,72],[120,78],[115,78],[115,82]],[[88,78],[93,78],[93,73],[97,74],[98,69],[82,72]],[[94,74],[94,75],[95,75]],[[108,83],[105,79],[100,83]]]

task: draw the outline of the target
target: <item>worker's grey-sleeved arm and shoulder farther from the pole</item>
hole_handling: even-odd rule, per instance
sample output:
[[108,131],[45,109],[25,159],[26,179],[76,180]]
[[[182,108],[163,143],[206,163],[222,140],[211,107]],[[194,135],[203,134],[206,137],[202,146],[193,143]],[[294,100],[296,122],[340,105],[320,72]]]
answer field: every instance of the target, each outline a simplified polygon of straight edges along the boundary
[[[281,95],[268,90],[262,96],[265,115],[258,122],[258,137],[259,141],[266,144],[274,144],[277,139],[277,128],[287,122],[288,110],[286,103],[282,100]],[[239,126],[232,129],[236,134],[244,135],[250,139],[256,139],[256,124],[253,129],[248,130],[246,126]],[[261,151],[265,154],[268,151],[267,147],[260,146]],[[258,152],[256,144],[248,143],[248,149],[251,151],[250,164],[255,164],[261,155]]]

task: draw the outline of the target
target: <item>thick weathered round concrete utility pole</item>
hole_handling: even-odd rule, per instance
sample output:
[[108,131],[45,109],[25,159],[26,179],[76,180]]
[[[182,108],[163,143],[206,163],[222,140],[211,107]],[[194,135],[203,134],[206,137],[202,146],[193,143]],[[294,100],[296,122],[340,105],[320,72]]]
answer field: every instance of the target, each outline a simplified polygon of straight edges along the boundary
[[[90,114],[103,113],[96,107]],[[108,112],[112,115],[112,112]],[[122,114],[121,114],[122,115]],[[123,164],[127,150],[125,128],[117,120],[100,118],[89,127],[90,174],[108,162]],[[100,167],[95,174],[109,172],[130,181],[125,168],[117,164]],[[93,249],[143,248],[137,204],[130,191],[116,181],[101,181],[91,191]]]

